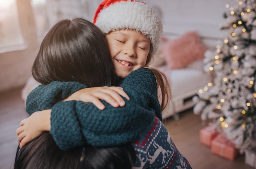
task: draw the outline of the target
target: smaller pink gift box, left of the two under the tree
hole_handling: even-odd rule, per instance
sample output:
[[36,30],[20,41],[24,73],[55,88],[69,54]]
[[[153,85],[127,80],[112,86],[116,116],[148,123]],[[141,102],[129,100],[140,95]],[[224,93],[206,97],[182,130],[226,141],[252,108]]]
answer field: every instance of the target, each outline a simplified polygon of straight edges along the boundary
[[218,135],[218,131],[213,126],[207,126],[200,130],[200,142],[211,147],[211,141]]

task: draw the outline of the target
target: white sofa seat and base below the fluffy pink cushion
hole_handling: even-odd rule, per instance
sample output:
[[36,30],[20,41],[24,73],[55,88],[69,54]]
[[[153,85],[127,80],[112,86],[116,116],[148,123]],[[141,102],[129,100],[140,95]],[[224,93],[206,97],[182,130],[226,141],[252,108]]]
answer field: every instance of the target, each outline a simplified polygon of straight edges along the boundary
[[166,74],[171,85],[171,101],[162,112],[163,119],[171,116],[178,119],[178,113],[195,105],[193,96],[210,81],[203,71],[203,60],[195,60],[183,69],[169,69],[167,65],[156,68]]

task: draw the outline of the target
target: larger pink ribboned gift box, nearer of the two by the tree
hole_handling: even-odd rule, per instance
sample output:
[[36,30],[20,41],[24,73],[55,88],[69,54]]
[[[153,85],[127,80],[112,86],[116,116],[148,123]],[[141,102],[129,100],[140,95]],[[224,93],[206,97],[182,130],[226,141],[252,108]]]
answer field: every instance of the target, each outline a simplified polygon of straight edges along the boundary
[[211,142],[211,152],[218,156],[234,160],[238,156],[236,145],[227,139],[224,133],[218,134]]

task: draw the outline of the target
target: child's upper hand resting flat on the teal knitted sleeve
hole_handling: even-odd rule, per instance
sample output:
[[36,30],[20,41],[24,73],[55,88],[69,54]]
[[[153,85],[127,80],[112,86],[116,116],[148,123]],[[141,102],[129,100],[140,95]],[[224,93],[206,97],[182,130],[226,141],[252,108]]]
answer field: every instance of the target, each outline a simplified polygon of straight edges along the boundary
[[123,107],[125,105],[125,102],[120,95],[130,100],[129,96],[124,92],[124,89],[121,87],[89,87],[76,91],[63,101],[81,100],[83,102],[91,102],[98,109],[103,110],[105,109],[105,106],[102,104],[100,99],[105,100],[113,107]]

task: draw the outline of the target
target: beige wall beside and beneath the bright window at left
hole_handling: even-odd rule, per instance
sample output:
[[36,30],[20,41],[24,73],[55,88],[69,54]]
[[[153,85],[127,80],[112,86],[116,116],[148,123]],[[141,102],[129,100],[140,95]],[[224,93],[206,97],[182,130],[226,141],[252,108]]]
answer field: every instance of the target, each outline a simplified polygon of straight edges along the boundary
[[0,91],[20,87],[31,75],[31,65],[38,51],[36,28],[30,0],[17,0],[26,49],[0,53]]

